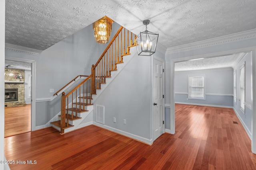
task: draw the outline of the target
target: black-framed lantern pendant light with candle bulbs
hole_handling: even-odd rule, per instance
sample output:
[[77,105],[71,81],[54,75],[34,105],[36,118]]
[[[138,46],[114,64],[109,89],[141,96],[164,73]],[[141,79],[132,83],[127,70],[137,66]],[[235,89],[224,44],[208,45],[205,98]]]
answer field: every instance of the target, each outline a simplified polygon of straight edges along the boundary
[[150,20],[144,20],[142,23],[146,25],[146,30],[140,32],[136,38],[137,51],[138,55],[150,56],[156,52],[156,44],[159,34],[147,30],[147,25],[150,23]]

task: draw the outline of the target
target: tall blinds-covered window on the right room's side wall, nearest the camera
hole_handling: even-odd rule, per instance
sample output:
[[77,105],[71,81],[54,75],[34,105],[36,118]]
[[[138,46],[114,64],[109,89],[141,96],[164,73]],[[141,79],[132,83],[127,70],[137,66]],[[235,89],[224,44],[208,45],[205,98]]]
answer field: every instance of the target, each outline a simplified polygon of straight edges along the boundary
[[244,111],[245,102],[245,63],[240,68],[240,108]]

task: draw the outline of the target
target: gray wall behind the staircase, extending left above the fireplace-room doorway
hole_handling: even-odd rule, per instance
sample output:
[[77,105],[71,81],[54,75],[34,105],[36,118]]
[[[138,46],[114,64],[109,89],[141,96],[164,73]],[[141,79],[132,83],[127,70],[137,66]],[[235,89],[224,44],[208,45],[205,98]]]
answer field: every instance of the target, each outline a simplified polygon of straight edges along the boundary
[[[113,23],[111,39],[119,29]],[[6,57],[36,61],[36,99],[51,98],[50,88],[58,91],[77,75],[90,75],[95,64],[108,44],[98,44],[94,40],[92,25],[42,51],[39,56],[5,50]],[[36,126],[45,125],[60,108],[60,99],[52,102],[36,102]]]

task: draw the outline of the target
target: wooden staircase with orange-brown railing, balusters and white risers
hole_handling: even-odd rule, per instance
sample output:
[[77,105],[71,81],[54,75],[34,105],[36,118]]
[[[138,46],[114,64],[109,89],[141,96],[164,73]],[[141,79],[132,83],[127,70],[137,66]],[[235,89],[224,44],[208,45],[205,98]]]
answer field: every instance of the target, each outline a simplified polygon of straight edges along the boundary
[[90,76],[68,94],[62,92],[59,120],[51,122],[54,129],[64,134],[83,127],[80,123],[93,110],[92,96],[97,95],[97,89],[106,84],[111,72],[117,70],[117,64],[123,63],[123,57],[130,55],[130,48],[134,46],[136,35],[121,26],[96,64],[92,65]]

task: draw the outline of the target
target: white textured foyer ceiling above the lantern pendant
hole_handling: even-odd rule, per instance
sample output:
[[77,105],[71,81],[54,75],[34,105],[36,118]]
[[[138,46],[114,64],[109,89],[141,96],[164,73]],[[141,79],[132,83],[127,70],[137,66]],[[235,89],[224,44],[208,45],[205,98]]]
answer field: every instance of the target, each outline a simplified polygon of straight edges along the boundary
[[166,48],[256,28],[256,0],[6,0],[6,43],[44,50],[108,16]]

